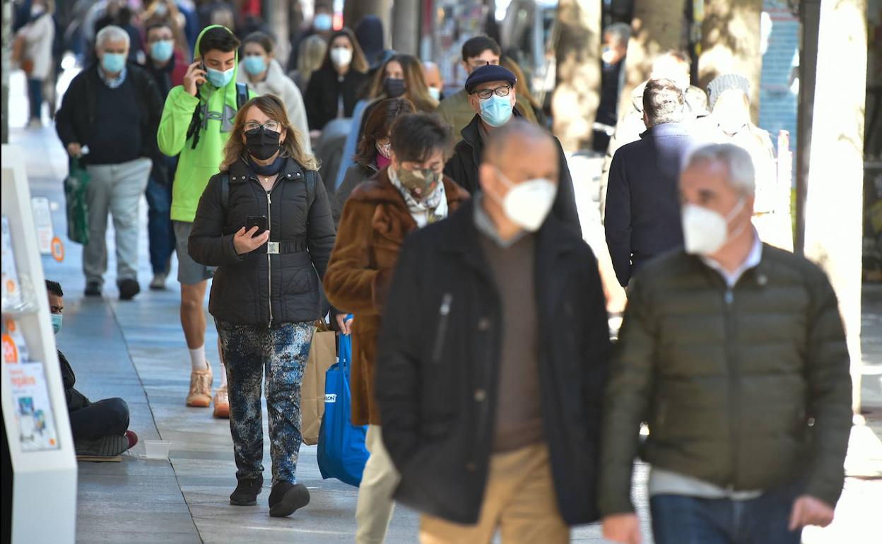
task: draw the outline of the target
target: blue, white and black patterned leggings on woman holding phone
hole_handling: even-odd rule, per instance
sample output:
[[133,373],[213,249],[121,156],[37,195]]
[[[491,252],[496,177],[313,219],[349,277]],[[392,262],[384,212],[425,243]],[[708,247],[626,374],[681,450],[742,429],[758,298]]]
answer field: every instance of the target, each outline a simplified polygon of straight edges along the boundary
[[260,378],[266,376],[273,485],[296,482],[300,453],[300,384],[310,354],[314,325],[259,325],[216,321],[227,367],[229,428],[233,436],[238,480],[264,472],[264,429],[260,407]]

